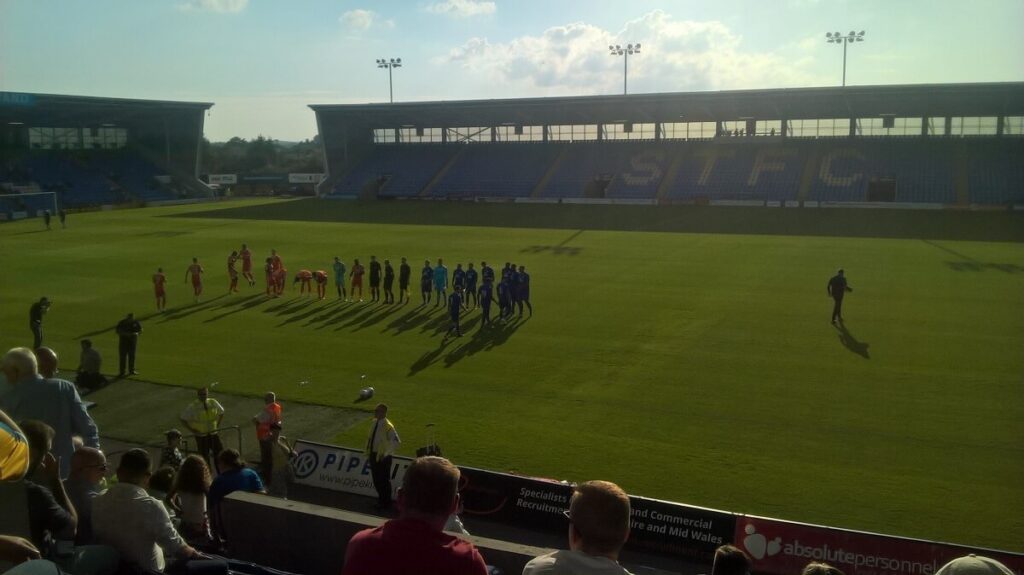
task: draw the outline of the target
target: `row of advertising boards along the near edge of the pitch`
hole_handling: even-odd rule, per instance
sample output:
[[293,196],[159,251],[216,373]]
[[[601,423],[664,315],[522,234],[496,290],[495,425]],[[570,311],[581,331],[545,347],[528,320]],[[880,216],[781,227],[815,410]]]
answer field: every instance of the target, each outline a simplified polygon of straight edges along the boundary
[[[296,483],[310,498],[324,492],[376,496],[370,463],[357,449],[300,440],[293,461]],[[401,484],[410,457],[394,457],[392,485]],[[512,476],[460,466],[467,519],[564,537],[571,486],[552,480]],[[670,561],[660,568],[690,572],[711,565],[715,549],[732,543],[765,575],[792,575],[810,561],[825,561],[847,575],[932,575],[946,562],[968,554],[996,559],[1024,575],[1024,555],[953,543],[896,537],[803,524],[684,503],[630,496],[633,523],[625,552]]]

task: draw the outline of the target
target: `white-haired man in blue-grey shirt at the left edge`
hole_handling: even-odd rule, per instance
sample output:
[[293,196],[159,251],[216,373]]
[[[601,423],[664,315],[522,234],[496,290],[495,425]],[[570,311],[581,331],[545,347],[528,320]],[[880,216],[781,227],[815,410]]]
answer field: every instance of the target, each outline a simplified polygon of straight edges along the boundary
[[79,435],[86,446],[99,449],[99,432],[78,390],[63,380],[44,380],[35,354],[28,348],[13,348],[4,354],[2,369],[11,387],[0,396],[0,409],[14,419],[38,419],[53,428],[53,454],[60,477],[67,478],[75,453],[73,436]]

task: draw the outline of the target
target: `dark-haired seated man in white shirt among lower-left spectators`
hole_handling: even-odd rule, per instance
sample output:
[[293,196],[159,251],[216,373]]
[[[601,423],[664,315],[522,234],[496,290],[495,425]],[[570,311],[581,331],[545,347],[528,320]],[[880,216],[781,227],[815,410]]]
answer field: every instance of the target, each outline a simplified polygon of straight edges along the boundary
[[147,571],[164,571],[172,560],[203,559],[181,538],[167,510],[145,491],[153,473],[150,454],[130,449],[121,456],[118,483],[92,501],[92,534],[118,549],[121,561]]

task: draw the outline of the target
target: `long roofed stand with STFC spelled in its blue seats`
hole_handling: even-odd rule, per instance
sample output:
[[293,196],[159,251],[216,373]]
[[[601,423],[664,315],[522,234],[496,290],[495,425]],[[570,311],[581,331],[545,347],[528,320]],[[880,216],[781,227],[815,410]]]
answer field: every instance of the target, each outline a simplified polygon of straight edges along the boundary
[[328,195],[930,207],[1021,202],[1021,102],[1024,83],[310,107]]

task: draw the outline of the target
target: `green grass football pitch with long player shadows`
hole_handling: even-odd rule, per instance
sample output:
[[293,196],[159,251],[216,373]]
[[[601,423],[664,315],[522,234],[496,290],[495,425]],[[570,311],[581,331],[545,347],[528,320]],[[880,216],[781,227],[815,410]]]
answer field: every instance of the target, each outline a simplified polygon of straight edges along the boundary
[[[113,325],[133,311],[139,379],[274,390],[286,427],[289,401],[369,412],[380,400],[407,455],[435,424],[462,465],[1024,550],[1022,215],[782,212],[307,200],[72,214],[48,232],[9,223],[0,345],[31,343],[29,306],[45,295],[63,368],[90,337],[111,372]],[[258,284],[227,295],[224,262],[242,242]],[[281,299],[262,295],[271,248],[290,272]],[[412,303],[300,298],[291,274],[330,270],[336,255],[396,268],[408,257]],[[194,256],[199,304],[184,279]],[[524,265],[535,315],[481,328],[474,310],[465,337],[444,341],[446,314],[417,293],[438,257],[450,270]],[[844,328],[825,294],[838,267],[854,288]],[[377,396],[354,403],[364,385]],[[119,425],[153,437],[178,409]],[[365,428],[307,439],[360,446]]]

